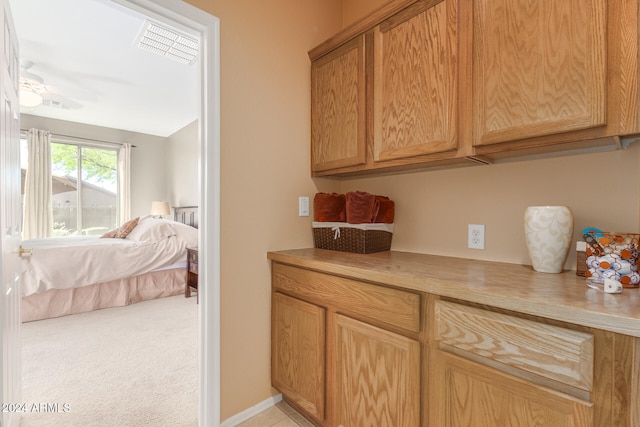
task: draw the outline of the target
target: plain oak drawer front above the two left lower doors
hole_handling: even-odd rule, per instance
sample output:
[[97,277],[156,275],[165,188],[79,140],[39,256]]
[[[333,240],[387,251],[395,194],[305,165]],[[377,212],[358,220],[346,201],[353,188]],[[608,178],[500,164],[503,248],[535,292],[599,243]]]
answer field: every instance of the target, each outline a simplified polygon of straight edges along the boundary
[[420,332],[420,295],[414,292],[273,264],[276,290],[336,311]]

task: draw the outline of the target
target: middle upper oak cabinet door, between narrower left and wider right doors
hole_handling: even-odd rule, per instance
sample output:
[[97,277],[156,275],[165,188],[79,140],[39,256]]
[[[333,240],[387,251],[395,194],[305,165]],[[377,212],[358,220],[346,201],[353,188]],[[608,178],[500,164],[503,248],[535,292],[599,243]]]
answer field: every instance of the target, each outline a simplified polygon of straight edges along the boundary
[[456,5],[421,3],[376,28],[375,161],[456,148]]

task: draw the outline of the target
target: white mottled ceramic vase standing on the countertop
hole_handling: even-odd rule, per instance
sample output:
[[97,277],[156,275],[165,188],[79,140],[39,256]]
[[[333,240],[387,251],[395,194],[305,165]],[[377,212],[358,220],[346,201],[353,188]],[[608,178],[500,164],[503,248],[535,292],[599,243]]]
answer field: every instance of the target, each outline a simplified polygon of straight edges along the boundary
[[573,213],[566,206],[529,206],[524,235],[533,269],[560,273],[573,238]]

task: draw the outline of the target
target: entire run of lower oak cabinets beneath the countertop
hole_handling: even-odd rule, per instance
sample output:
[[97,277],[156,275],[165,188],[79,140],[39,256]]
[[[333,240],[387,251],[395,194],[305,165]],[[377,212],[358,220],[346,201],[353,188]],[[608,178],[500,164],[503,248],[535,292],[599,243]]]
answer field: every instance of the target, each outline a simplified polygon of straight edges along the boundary
[[640,338],[382,279],[272,264],[272,384],[315,424],[640,426]]

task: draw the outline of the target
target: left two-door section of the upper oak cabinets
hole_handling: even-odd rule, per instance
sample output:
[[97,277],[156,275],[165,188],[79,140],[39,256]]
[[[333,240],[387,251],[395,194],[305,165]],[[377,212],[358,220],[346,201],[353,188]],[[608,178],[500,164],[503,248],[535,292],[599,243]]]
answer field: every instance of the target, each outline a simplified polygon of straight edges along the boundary
[[457,4],[416,2],[312,61],[314,175],[456,157]]

